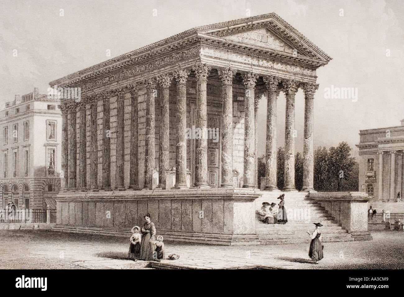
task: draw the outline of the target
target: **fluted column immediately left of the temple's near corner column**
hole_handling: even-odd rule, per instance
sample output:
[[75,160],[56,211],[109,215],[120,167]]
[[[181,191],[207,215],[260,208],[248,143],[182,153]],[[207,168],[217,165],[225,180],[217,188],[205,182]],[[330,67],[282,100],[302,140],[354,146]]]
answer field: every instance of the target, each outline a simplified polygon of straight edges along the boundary
[[177,69],[173,72],[177,80],[177,164],[175,172],[175,188],[187,188],[187,140],[185,139],[187,124],[187,77],[189,70]]

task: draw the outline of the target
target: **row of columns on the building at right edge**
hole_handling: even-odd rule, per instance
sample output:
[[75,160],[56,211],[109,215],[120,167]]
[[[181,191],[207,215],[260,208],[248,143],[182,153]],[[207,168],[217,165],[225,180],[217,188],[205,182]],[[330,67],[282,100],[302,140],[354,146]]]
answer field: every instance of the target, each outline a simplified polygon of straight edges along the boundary
[[397,169],[397,192],[401,193],[402,188],[402,151],[389,151],[389,152],[378,152],[379,155],[379,178],[378,178],[378,197],[383,199],[383,154],[390,154],[390,179],[389,179],[389,199],[396,200],[396,154],[398,155],[398,169]]

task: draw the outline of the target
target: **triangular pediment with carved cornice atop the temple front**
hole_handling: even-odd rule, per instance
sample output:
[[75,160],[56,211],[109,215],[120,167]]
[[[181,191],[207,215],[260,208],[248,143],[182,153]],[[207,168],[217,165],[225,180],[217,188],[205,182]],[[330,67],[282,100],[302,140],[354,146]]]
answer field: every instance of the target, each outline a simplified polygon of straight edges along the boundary
[[320,60],[322,63],[328,63],[331,60],[331,57],[276,13],[217,23],[196,29],[199,33],[222,38],[229,42],[259,46],[289,55],[298,54],[300,57]]

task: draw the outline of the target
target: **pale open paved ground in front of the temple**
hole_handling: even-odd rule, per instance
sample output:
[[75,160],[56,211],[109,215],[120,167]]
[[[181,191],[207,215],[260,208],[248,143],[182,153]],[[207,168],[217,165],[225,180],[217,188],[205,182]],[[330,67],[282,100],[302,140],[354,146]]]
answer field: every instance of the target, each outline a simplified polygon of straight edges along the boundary
[[[308,244],[267,246],[213,246],[167,241],[161,265],[187,268],[403,269],[404,232],[375,231],[373,240],[326,242],[324,259],[311,263]],[[126,259],[128,238],[53,232],[49,230],[0,230],[0,268],[146,268],[143,261]]]

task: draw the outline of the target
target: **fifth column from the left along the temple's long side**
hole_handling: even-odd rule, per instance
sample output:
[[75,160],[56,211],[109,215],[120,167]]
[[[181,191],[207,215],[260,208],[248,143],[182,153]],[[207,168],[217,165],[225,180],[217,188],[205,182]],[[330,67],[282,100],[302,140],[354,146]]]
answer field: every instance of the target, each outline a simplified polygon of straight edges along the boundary
[[111,191],[111,130],[109,129],[109,92],[102,92],[103,98],[103,157],[102,188]]

